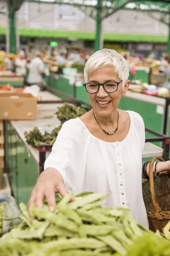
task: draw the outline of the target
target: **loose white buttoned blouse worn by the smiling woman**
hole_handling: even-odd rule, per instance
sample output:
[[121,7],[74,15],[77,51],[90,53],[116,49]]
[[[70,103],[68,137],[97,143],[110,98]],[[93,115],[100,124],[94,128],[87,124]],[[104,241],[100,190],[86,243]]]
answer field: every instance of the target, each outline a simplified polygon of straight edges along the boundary
[[129,208],[136,221],[148,227],[142,196],[144,122],[138,113],[127,113],[130,129],[121,142],[99,140],[79,118],[65,122],[44,169],[57,169],[68,191],[109,194],[107,207]]

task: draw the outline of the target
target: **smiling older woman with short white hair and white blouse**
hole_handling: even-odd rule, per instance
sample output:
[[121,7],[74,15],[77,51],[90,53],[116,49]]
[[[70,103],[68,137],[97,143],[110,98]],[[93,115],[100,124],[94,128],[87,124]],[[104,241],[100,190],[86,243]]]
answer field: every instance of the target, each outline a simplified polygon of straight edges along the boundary
[[[147,177],[149,170],[149,163],[142,170],[144,122],[138,113],[118,109],[130,84],[127,61],[114,50],[99,50],[88,59],[84,76],[93,109],[62,125],[28,205],[42,207],[46,198],[54,211],[56,192],[100,192],[109,194],[107,206],[131,209],[148,227],[142,198],[142,174]],[[156,172],[169,166],[159,162]]]

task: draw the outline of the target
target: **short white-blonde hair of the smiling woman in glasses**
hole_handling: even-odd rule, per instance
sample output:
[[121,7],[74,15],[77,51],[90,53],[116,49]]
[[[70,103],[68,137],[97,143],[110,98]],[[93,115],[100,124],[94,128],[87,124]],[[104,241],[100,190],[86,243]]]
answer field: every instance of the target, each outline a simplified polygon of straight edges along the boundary
[[111,49],[102,49],[91,55],[84,68],[85,83],[88,82],[88,77],[92,72],[107,65],[113,66],[114,72],[119,76],[119,79],[123,80],[124,88],[125,81],[129,76],[129,67],[125,58]]

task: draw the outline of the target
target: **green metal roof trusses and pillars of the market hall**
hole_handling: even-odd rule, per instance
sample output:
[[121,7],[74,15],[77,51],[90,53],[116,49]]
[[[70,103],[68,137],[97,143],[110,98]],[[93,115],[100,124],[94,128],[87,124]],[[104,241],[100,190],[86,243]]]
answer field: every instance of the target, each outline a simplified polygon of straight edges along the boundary
[[[101,24],[102,20],[113,15],[120,9],[142,11],[150,17],[167,24],[170,27],[170,0],[4,0],[8,3],[8,15],[10,20],[10,45],[13,45],[12,52],[15,52],[14,44],[15,26],[14,13],[20,8],[23,2],[28,3],[51,3],[73,5],[85,12],[86,15],[96,20],[95,50],[101,47]],[[156,15],[160,13],[159,17]],[[170,52],[170,36],[169,36]],[[12,47],[11,47],[12,48]]]

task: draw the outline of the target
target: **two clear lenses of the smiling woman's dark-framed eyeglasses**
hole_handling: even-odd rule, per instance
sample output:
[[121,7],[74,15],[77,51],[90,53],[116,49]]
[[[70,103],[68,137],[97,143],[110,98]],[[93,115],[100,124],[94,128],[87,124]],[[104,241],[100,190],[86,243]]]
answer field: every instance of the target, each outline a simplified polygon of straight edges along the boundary
[[[107,92],[115,92],[117,90],[117,84],[114,82],[105,83],[104,87]],[[86,90],[88,93],[96,93],[99,88],[98,84],[90,83],[86,84]]]

